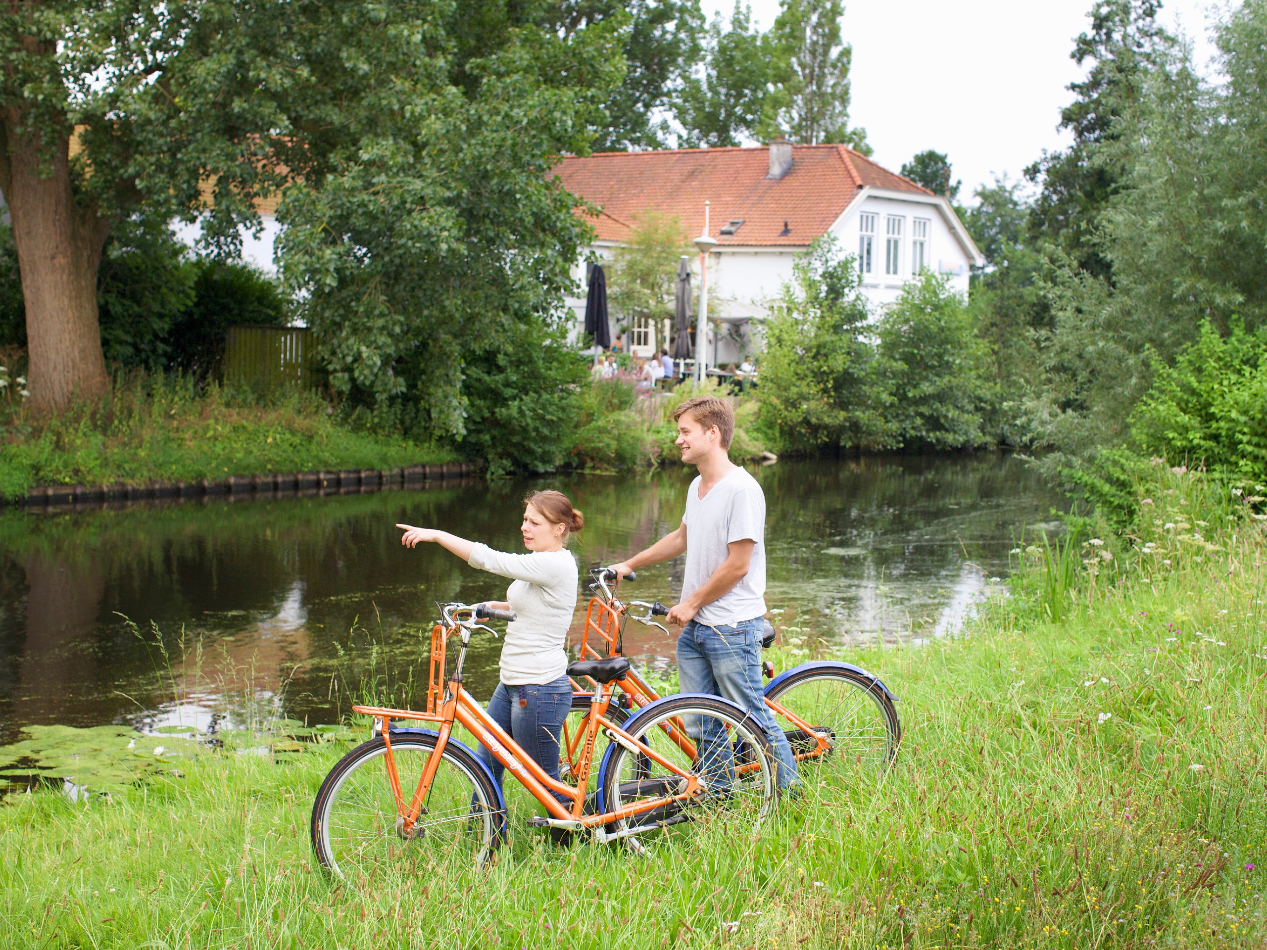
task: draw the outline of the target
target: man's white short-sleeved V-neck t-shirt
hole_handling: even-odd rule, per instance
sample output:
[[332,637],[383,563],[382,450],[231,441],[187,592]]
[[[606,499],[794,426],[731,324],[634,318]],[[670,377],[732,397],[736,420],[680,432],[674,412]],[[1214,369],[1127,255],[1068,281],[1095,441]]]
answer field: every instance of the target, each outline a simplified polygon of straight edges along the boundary
[[716,627],[751,621],[765,613],[765,493],[748,471],[734,469],[699,498],[701,478],[687,489],[687,570],[682,580],[685,600],[707,583],[726,557],[730,542],[751,540],[753,560],[748,574],[729,593],[696,614],[701,623]]

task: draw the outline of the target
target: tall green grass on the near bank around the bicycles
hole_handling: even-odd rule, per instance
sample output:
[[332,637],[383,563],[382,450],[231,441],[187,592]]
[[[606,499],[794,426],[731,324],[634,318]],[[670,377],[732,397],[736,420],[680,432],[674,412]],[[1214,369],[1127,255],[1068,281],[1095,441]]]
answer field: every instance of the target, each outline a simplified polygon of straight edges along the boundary
[[490,870],[332,887],[307,821],[338,750],[213,756],[109,802],[10,798],[0,942],[1259,947],[1267,542],[1244,504],[1215,527],[1200,478],[1149,491],[1156,527],[1062,548],[1063,593],[1028,555],[963,636],[849,652],[901,698],[898,761],[848,789],[811,780],[759,833],[679,826],[647,860],[557,849],[514,793]]

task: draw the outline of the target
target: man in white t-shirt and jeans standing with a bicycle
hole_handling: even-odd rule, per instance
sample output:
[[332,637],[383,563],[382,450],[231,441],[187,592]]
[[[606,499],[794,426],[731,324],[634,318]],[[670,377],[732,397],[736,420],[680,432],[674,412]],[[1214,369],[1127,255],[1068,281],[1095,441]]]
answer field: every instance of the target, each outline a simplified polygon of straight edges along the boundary
[[[642,565],[685,554],[682,598],[669,611],[669,623],[683,626],[678,637],[682,692],[712,693],[748,709],[765,730],[779,787],[787,788],[797,782],[796,761],[761,690],[765,494],[726,453],[735,434],[730,403],[696,396],[679,405],[673,418],[682,461],[699,470],[687,489],[682,524],[613,567],[623,578]],[[703,744],[710,742],[725,742],[725,736],[704,736]],[[707,757],[704,749],[701,756]]]

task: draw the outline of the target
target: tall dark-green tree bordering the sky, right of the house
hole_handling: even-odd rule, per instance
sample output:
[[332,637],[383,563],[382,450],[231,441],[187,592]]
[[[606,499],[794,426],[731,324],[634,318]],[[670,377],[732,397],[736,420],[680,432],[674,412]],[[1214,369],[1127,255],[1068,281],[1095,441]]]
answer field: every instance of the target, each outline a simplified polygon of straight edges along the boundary
[[1044,152],[1025,170],[1041,186],[1031,231],[1095,276],[1111,270],[1095,246],[1096,220],[1125,172],[1102,146],[1117,138],[1119,120],[1139,100],[1159,49],[1171,39],[1157,23],[1161,6],[1161,0],[1096,0],[1091,29],[1069,53],[1078,66],[1090,63],[1087,77],[1069,85],[1073,103],[1060,111],[1059,127],[1072,133],[1073,144]]

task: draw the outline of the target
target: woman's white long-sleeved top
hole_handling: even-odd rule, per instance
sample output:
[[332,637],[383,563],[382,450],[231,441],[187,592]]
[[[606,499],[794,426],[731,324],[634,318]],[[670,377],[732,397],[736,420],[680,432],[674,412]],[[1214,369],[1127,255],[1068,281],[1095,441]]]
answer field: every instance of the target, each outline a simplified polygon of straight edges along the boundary
[[512,555],[475,545],[469,564],[514,580],[506,592],[516,619],[506,627],[502,681],[519,687],[563,676],[568,670],[564,643],[580,579],[571,552],[564,548]]

